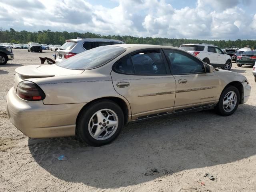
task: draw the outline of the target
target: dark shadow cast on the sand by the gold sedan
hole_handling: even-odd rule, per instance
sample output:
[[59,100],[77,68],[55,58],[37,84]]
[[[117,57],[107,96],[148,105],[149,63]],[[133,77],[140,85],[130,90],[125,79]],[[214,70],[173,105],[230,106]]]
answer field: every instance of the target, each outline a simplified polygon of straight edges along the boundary
[[202,111],[148,120],[125,126],[114,142],[102,147],[74,137],[29,138],[28,146],[38,165],[61,180],[119,188],[255,155],[255,113],[256,106],[244,104],[228,117]]

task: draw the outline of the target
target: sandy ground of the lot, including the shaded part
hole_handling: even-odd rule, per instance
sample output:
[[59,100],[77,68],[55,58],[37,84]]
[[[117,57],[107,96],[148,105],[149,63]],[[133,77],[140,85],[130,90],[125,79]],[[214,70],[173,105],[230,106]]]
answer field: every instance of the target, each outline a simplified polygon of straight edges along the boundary
[[[250,192],[256,191],[256,83],[252,67],[244,74],[250,100],[232,116],[213,111],[169,116],[126,126],[117,140],[90,147],[74,137],[32,139],[9,121],[5,97],[15,68],[39,64],[38,56],[14,50],[15,60],[0,66],[0,191],[62,192]],[[63,154],[60,161],[54,154]],[[204,177],[212,174],[215,179]]]

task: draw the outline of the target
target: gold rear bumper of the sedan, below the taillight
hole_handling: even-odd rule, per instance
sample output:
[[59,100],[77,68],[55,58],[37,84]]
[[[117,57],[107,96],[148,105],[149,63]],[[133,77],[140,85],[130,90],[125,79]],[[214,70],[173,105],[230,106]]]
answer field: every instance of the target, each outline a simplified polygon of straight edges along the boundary
[[6,110],[12,124],[26,136],[51,138],[74,136],[76,118],[84,104],[44,105],[26,101],[12,87],[6,96]]

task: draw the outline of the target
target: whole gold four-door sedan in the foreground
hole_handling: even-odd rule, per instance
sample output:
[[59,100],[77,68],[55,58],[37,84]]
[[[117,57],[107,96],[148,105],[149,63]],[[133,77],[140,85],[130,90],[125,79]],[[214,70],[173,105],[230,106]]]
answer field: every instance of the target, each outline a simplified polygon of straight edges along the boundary
[[242,74],[158,45],[100,46],[15,71],[6,105],[16,128],[33,138],[77,135],[93,146],[131,122],[212,108],[231,115],[251,90]]

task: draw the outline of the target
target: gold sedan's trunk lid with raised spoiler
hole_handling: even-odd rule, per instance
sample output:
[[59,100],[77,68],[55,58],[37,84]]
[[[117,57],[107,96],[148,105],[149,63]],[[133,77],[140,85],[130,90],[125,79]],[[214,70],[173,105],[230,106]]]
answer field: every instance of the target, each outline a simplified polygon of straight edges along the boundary
[[14,89],[18,84],[26,79],[35,80],[36,78],[46,78],[63,75],[81,74],[84,70],[66,69],[55,64],[53,65],[28,65],[15,69],[16,76],[14,80]]

